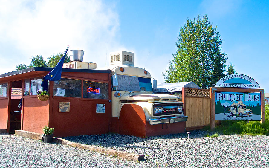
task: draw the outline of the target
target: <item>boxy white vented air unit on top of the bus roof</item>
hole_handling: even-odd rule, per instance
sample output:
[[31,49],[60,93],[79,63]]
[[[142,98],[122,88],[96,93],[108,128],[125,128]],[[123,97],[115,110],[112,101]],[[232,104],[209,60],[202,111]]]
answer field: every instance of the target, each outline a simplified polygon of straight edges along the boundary
[[134,53],[127,51],[118,51],[109,53],[109,56],[109,65],[112,67],[120,65],[134,66]]

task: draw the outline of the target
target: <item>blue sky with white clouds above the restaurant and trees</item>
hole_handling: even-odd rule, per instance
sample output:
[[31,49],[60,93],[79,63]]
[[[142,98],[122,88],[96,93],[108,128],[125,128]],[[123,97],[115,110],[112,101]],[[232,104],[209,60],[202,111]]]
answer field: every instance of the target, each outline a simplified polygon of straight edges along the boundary
[[84,50],[84,62],[108,65],[109,52],[135,53],[135,66],[158,83],[175,53],[186,19],[207,14],[221,35],[227,65],[269,93],[269,1],[3,1],[0,74],[29,65],[31,56]]

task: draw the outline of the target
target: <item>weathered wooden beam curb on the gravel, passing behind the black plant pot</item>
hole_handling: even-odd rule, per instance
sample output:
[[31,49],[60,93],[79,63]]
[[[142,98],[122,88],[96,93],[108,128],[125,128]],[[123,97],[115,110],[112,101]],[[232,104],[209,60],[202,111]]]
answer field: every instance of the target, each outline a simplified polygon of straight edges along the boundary
[[[42,137],[43,137],[42,134],[29,132],[29,131],[23,131],[23,130],[15,130],[15,135],[19,135],[22,137],[31,138],[31,139],[35,139],[35,140],[42,140]],[[106,153],[108,155],[113,155],[113,156],[125,158],[128,160],[133,160],[133,161],[144,160],[143,155],[137,155],[137,154],[133,154],[133,153],[121,152],[121,151],[101,148],[101,147],[97,147],[97,146],[75,143],[75,142],[71,142],[71,141],[68,141],[68,140],[65,140],[62,138],[57,138],[57,137],[53,137],[52,140],[53,140],[53,142],[59,143],[62,145],[73,146],[73,147],[78,147],[78,148],[82,148],[82,149],[88,149],[90,151],[95,151],[95,152],[100,152],[100,153]]]

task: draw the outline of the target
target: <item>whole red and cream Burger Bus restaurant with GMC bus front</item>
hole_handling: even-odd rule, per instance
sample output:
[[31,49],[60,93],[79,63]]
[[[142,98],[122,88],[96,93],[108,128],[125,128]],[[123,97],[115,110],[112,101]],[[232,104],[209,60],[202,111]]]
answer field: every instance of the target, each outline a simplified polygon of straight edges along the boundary
[[[54,128],[56,137],[109,132],[149,137],[185,132],[188,116],[181,97],[154,94],[157,82],[153,80],[152,88],[149,72],[134,66],[134,53],[113,52],[110,58],[110,67],[104,70],[82,59],[63,64],[61,79],[48,83],[46,101],[39,101],[37,92],[42,78],[53,68],[1,74],[0,130],[42,133],[46,125]],[[15,96],[15,90],[21,96]]]

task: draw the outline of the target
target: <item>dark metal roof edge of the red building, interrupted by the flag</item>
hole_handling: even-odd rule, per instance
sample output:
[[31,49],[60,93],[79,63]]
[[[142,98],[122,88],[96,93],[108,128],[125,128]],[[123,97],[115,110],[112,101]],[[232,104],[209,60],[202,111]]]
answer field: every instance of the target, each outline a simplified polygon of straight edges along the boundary
[[[19,70],[19,71],[13,71],[13,72],[9,72],[9,73],[6,73],[6,74],[1,74],[0,78],[12,76],[12,75],[17,75],[17,74],[22,74],[22,73],[26,73],[26,72],[31,72],[31,71],[48,71],[48,72],[50,72],[51,70],[53,70],[53,68],[49,68],[49,67],[31,67],[31,68],[22,69],[22,70]],[[111,73],[112,71],[110,69],[108,69],[108,70],[99,70],[99,69],[69,69],[69,68],[62,68],[62,72]]]

